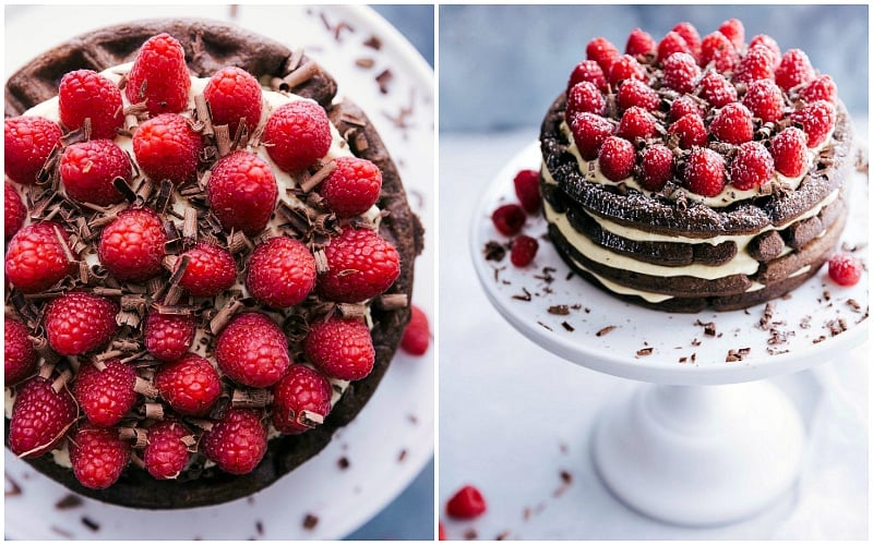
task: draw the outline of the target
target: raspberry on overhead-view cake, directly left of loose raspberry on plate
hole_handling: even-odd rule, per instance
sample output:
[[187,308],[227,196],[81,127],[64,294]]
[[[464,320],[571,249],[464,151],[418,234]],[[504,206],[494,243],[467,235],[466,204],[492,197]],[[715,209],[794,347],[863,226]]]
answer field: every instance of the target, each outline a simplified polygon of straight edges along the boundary
[[319,371],[342,380],[364,378],[375,363],[370,329],[354,319],[320,319],[311,324],[303,350]]

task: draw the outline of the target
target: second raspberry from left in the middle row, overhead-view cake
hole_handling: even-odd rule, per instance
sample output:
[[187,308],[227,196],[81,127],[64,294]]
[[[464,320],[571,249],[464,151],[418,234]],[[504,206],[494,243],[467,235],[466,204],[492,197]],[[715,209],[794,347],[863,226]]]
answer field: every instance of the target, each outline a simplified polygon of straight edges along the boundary
[[160,274],[166,243],[160,216],[151,208],[128,208],[104,228],[97,253],[118,280],[142,282]]

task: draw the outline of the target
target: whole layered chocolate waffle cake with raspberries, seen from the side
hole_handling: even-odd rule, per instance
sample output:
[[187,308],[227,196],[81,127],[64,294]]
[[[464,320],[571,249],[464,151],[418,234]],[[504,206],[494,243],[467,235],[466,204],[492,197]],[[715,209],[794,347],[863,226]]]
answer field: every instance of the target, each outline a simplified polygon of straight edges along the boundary
[[672,312],[744,308],[816,274],[845,227],[852,124],[805,53],[744,44],[731,20],[703,40],[637,28],[624,56],[596,38],[587,57],[540,134],[549,238],[573,270]]

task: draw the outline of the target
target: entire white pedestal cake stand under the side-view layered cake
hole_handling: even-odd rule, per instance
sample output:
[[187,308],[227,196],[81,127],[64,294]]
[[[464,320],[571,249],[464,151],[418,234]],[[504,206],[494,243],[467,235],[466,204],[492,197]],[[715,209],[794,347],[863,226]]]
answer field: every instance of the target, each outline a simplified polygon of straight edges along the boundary
[[[540,242],[530,266],[487,261],[488,242],[507,241],[491,213],[516,202],[514,174],[539,162],[535,143],[480,197],[474,264],[491,303],[530,340],[578,365],[649,383],[599,417],[591,451],[603,483],[627,506],[683,525],[728,523],[775,502],[800,472],[805,437],[797,408],[766,378],[839,360],[866,339],[866,276],[847,289],[823,269],[766,313],[758,305],[671,314],[572,275],[539,217],[523,231]],[[853,182],[853,202],[866,203],[866,177]],[[844,244],[865,247],[866,221],[865,207],[856,207]]]

